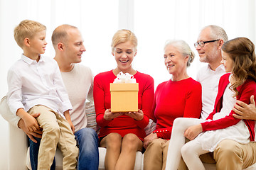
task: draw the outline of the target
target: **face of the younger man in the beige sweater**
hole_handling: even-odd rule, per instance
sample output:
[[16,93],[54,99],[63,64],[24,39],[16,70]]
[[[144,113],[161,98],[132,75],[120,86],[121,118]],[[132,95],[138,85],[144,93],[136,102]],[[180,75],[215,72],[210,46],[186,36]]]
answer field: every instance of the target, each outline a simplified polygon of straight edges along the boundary
[[70,63],[82,61],[82,53],[85,52],[82,35],[77,28],[70,28],[68,31],[67,42],[65,42],[65,57]]

